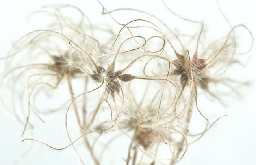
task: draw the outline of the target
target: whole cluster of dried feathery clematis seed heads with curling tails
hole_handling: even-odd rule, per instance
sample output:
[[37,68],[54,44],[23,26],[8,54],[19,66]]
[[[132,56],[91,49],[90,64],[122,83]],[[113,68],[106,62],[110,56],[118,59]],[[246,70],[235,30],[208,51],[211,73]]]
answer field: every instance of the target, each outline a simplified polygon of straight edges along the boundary
[[[210,95],[217,101],[214,104],[225,105],[222,97],[239,95],[234,84],[247,84],[233,80],[229,70],[243,65],[239,55],[252,49],[251,45],[246,53],[237,52],[236,30],[249,32],[250,44],[254,42],[252,32],[245,25],[231,26],[226,35],[209,41],[203,22],[182,17],[165,1],[172,16],[196,25],[197,31],[178,33],[153,13],[134,8],[108,11],[98,2],[102,17],[109,17],[115,25],[104,29],[92,23],[82,9],[66,4],[44,6],[30,15],[43,13],[51,22],[45,29],[22,36],[2,58],[6,71],[0,84],[1,101],[24,127],[22,138],[28,136],[27,129],[37,129],[37,119],[45,122],[44,118],[65,110],[68,144],[56,147],[38,138],[22,141],[39,142],[54,150],[72,146],[82,164],[88,164],[88,157],[79,142],[85,144],[91,162],[100,165],[104,164],[102,157],[116,151],[112,144],[118,138],[123,138],[128,148],[121,158],[126,165],[179,164],[189,145],[226,116],[208,117],[198,96]],[[77,13],[78,19],[65,13],[67,8]],[[115,17],[124,11],[148,19],[123,22]],[[218,85],[228,89],[226,95],[215,92],[223,90]],[[6,92],[11,94],[10,100],[5,98]],[[195,114],[202,120],[196,133],[191,128]]]

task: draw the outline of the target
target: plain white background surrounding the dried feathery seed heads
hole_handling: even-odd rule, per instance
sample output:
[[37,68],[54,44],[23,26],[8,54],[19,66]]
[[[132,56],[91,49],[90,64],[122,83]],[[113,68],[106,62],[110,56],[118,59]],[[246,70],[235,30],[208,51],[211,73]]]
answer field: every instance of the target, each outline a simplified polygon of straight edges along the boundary
[[[230,22],[233,25],[243,23],[256,34],[255,2],[253,0],[233,1],[234,0],[223,0],[220,2]],[[13,41],[34,29],[33,26],[31,27],[29,23],[26,23],[26,17],[30,12],[39,9],[42,5],[57,3],[76,5],[90,18],[98,18],[96,22],[106,21],[103,18],[108,17],[106,15],[100,16],[102,8],[95,0],[2,1],[0,4],[0,56],[3,57],[6,55]],[[170,13],[165,10],[161,0],[155,0],[154,2],[149,0],[102,0],[102,3],[108,10],[131,7],[148,11],[161,17],[165,22],[169,21],[168,25],[171,25],[171,28],[179,28],[179,25],[176,26],[172,24],[172,20],[169,19]],[[223,25],[226,22],[219,14],[215,0],[181,0],[180,2],[170,1],[167,4],[171,5],[170,7],[172,9],[184,17],[205,21],[206,26],[209,25],[207,30],[211,30],[211,28],[215,29],[212,35],[218,33],[223,26],[227,27],[227,24]],[[94,16],[95,13],[97,15]],[[119,15],[119,18],[121,17],[122,15]],[[130,20],[136,19],[137,15],[136,13],[134,15],[131,14],[128,18]],[[113,26],[118,27],[111,19],[107,20],[110,25],[113,24]],[[44,20],[41,21],[43,22]],[[221,23],[217,24],[217,22]],[[186,29],[190,27],[182,28]],[[255,49],[253,49],[250,54],[252,58],[247,68],[244,69],[245,72],[241,73],[252,81],[252,85],[245,89],[241,100],[229,102],[225,110],[225,113],[228,114],[227,117],[221,119],[213,129],[206,133],[202,140],[189,147],[187,154],[180,162],[181,165],[256,164]],[[2,69],[2,62],[0,62],[0,72],[2,72]],[[22,129],[23,128],[14,118],[9,116],[4,108],[0,106],[0,164],[13,164],[13,162],[24,153],[24,150],[28,148],[28,143],[21,142]],[[44,129],[41,129],[41,131],[45,131],[42,133],[51,133]],[[26,157],[22,158],[18,164],[77,164],[79,161],[77,161],[76,155],[73,152],[72,149],[59,152],[51,150],[41,144],[34,144],[31,152]],[[126,150],[124,152],[126,152]],[[122,162],[122,160],[120,160],[120,162]]]

